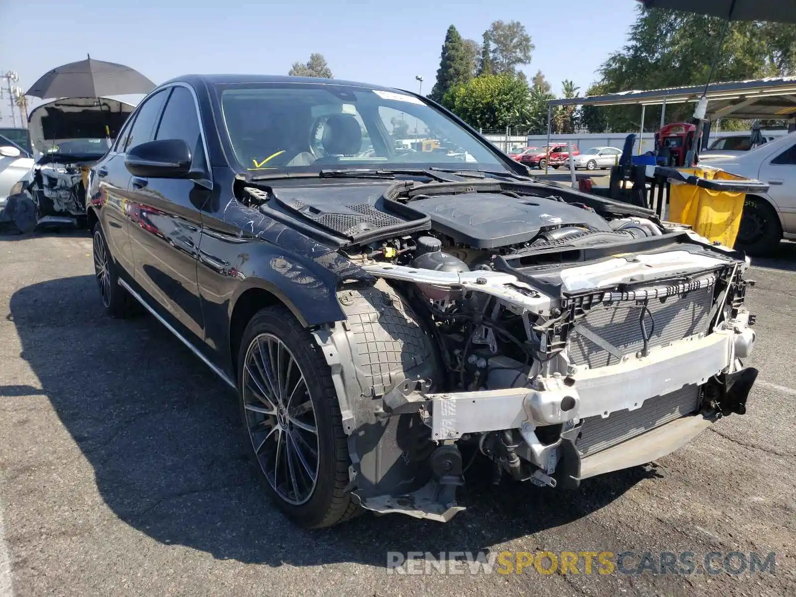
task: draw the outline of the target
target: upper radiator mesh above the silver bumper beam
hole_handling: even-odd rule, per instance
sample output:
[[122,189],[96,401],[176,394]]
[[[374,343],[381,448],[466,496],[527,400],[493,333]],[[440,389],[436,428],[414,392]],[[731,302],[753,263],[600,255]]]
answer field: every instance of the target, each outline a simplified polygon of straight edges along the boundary
[[[647,304],[644,321],[650,336],[650,348],[682,340],[693,334],[708,332],[708,315],[713,302],[713,288],[690,291],[685,296],[670,296],[665,302],[652,299]],[[595,306],[569,334],[568,356],[574,365],[588,365],[590,369],[616,365],[619,357],[586,338],[580,330],[602,338],[622,354],[634,354],[644,346],[639,316],[642,307],[634,302],[611,306]],[[654,323],[654,326],[653,326]]]

